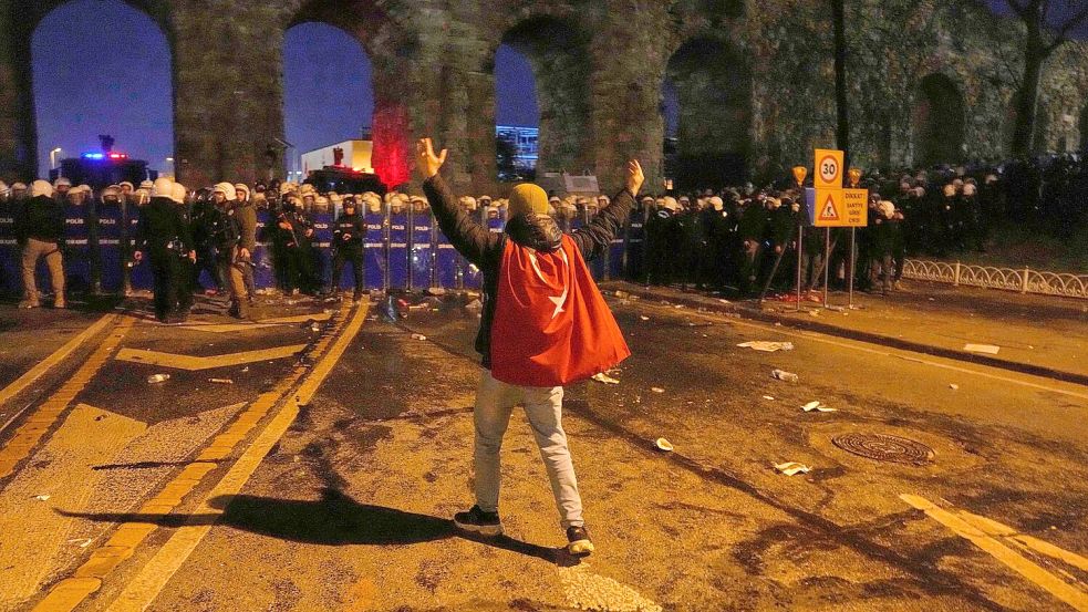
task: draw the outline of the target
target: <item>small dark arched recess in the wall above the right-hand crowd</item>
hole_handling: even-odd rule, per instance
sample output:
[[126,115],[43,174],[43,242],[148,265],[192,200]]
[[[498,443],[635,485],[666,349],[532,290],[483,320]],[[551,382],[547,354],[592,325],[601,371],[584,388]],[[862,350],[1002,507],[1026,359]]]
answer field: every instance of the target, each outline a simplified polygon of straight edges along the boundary
[[965,105],[944,74],[922,79],[914,105],[914,164],[934,166],[963,159]]

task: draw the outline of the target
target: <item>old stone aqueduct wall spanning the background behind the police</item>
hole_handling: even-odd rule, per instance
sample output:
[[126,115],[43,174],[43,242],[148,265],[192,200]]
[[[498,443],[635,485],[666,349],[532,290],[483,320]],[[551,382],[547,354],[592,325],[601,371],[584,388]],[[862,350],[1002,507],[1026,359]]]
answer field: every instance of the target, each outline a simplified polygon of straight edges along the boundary
[[[0,177],[38,172],[30,41],[64,1],[0,2]],[[169,43],[175,158],[189,185],[282,173],[283,38],[308,21],[343,29],[370,55],[374,131],[396,134],[385,153],[407,154],[414,135],[434,135],[450,149],[455,185],[476,193],[495,188],[494,62],[502,43],[533,68],[545,170],[589,169],[610,186],[622,160],[639,157],[662,176],[666,76],[680,98],[681,155],[742,156],[777,172],[835,143],[823,0],[126,1]],[[972,0],[847,4],[858,163],[1005,154],[1015,21]],[[1088,44],[1059,50],[1042,92],[1037,146],[1081,148]]]

